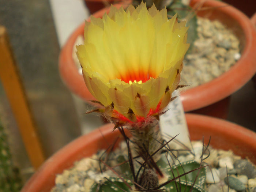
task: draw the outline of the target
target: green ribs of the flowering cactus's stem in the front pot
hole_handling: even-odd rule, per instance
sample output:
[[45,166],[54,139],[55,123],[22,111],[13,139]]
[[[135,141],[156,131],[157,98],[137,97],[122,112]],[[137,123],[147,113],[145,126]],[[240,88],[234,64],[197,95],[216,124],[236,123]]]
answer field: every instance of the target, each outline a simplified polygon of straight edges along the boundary
[[[161,167],[161,170],[163,171],[165,175],[165,180],[173,180],[174,178],[177,178],[178,176],[181,176],[184,174],[184,176],[177,178],[176,180],[164,185],[160,189],[165,189],[167,192],[177,192],[177,188],[180,191],[189,192],[190,190],[192,192],[204,192],[204,185],[205,185],[205,178],[206,178],[206,172],[205,169],[198,169],[200,167],[200,164],[195,161],[187,161],[182,162],[179,165],[169,166],[169,164],[166,162],[165,155],[161,155],[161,159],[157,162],[158,166]],[[127,156],[125,155],[119,155],[118,161],[126,162]],[[137,164],[136,170],[138,171],[139,166]],[[198,170],[196,170],[198,169]],[[191,170],[195,170],[191,173],[185,174],[187,172],[190,172]],[[97,191],[108,191],[108,192],[132,192],[135,190],[138,190],[138,187],[136,187],[136,184],[132,181],[132,173],[129,169],[129,166],[126,163],[118,167],[118,171],[120,171],[120,174],[122,178],[125,180],[125,182],[128,184],[125,184],[119,177],[109,177],[106,179],[105,182],[97,183],[95,182],[91,188],[90,192],[97,192]],[[162,179],[163,180],[163,179]],[[138,183],[139,184],[139,183]],[[161,185],[161,183],[159,183]],[[156,191],[157,189],[150,189],[151,191]],[[148,190],[148,191],[150,191]],[[141,191],[144,191],[143,189]]]

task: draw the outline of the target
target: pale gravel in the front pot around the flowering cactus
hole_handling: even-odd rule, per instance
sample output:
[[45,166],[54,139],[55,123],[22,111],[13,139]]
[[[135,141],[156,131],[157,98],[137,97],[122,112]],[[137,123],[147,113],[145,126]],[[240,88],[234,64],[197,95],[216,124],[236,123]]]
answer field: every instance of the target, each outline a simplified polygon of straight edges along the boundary
[[[195,155],[191,155],[188,152],[181,152],[178,156],[180,162],[196,160],[197,156],[201,155],[202,142],[192,142],[192,146]],[[241,157],[234,155],[232,151],[217,150],[211,147],[208,149],[210,150],[210,156],[204,160],[204,163],[210,165],[206,168],[205,190],[207,192],[255,191],[256,177],[248,179],[247,176],[251,176],[251,172],[254,172],[256,169],[255,165],[247,159],[241,159]],[[58,174],[55,179],[56,185],[51,192],[89,192],[90,187],[95,182],[103,183],[106,181],[106,178],[114,177],[115,175],[111,170],[100,173],[99,161],[97,159],[103,153],[104,151],[100,151],[90,158],[83,158],[75,162],[74,167],[71,169],[64,170],[62,174]],[[117,156],[119,153],[127,153],[124,143],[114,152]],[[223,163],[223,159],[225,159],[227,165],[230,165],[229,167],[219,166]],[[113,165],[116,164],[117,162],[114,161]],[[247,171],[244,172],[245,169],[241,168],[246,167],[244,165],[247,165],[251,170],[246,169]],[[233,169],[233,167],[235,168]],[[240,168],[243,170],[242,172]]]

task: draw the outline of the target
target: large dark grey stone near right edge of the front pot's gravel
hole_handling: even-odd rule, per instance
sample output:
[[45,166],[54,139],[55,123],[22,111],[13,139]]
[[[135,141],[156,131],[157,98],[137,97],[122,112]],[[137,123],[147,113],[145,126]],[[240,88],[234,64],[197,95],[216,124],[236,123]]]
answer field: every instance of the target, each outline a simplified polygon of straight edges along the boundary
[[234,167],[240,175],[246,175],[249,179],[256,177],[256,168],[246,159],[235,161]]

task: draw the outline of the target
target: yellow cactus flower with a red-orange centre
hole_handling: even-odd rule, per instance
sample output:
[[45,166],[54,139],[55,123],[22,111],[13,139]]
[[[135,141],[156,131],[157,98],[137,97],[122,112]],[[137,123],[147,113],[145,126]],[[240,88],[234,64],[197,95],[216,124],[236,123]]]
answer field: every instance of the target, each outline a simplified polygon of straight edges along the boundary
[[115,123],[145,122],[163,112],[178,86],[187,52],[187,27],[166,9],[141,3],[91,16],[77,46],[84,81]]

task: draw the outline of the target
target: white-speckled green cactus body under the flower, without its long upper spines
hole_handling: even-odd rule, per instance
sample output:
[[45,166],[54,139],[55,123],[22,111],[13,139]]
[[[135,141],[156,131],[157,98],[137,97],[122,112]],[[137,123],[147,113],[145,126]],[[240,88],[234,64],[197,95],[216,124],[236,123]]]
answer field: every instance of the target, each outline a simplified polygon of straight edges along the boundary
[[[177,191],[192,191],[192,192],[204,192],[205,178],[206,173],[204,167],[194,161],[181,162],[177,165],[170,165],[170,156],[168,158],[168,153],[162,153],[161,158],[157,162],[157,166],[161,169],[165,177],[165,181],[158,184],[158,177],[156,172],[148,167],[148,165],[142,166],[143,163],[138,163],[139,160],[133,159],[133,165],[135,165],[135,179],[133,178],[132,169],[129,166],[129,155],[119,154],[122,153],[121,150],[115,153],[108,154],[109,159],[117,159],[117,165],[115,166],[109,162],[108,165],[106,162],[99,160],[100,163],[103,163],[106,166],[106,170],[112,170],[116,176],[109,176],[105,178],[102,182],[95,182],[91,188],[90,192],[98,191],[157,191],[165,189],[168,192],[177,192]],[[131,152],[131,151],[130,151]],[[135,161],[137,163],[135,163]],[[144,162],[145,163],[145,162]],[[115,167],[115,168],[112,168]],[[197,170],[198,169],[198,170]],[[138,173],[140,172],[140,173]],[[98,173],[101,174],[101,173]],[[146,179],[144,179],[144,178]],[[154,182],[157,180],[157,182]],[[142,182],[143,181],[143,182]]]

